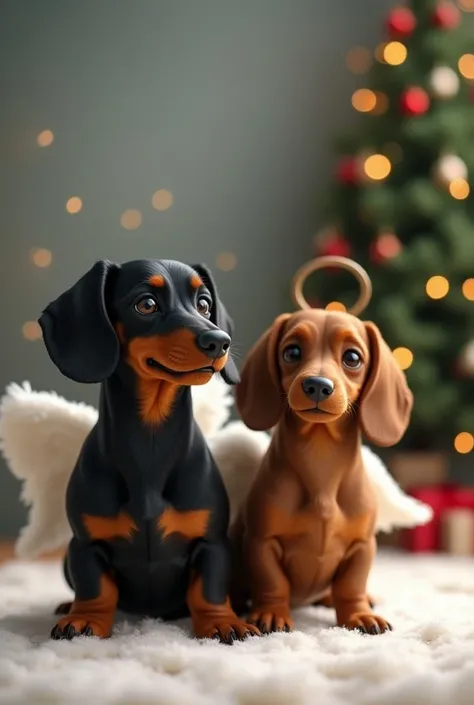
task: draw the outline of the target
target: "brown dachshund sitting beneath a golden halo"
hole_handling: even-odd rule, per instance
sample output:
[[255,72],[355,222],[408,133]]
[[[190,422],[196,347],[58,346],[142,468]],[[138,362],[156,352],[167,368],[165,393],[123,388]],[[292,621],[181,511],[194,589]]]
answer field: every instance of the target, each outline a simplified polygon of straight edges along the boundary
[[351,314],[283,314],[250,351],[237,406],[250,428],[275,429],[232,538],[263,633],[289,631],[290,608],[315,603],[339,626],[391,629],[366,592],[376,507],[361,433],[394,445],[412,405],[378,328]]

